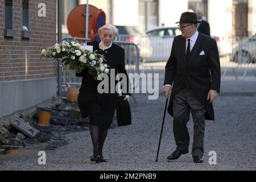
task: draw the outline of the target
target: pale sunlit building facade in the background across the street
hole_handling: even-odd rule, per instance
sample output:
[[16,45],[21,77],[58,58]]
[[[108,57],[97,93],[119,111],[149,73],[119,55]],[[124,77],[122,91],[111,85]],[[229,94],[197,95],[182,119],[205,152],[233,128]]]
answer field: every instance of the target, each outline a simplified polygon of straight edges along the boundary
[[[86,3],[86,0],[64,0],[69,6],[72,6],[71,1],[73,6]],[[256,33],[255,0],[89,0],[89,4],[105,11],[107,23],[137,26],[143,31],[177,26],[175,22],[181,13],[201,10],[214,36],[251,36]]]

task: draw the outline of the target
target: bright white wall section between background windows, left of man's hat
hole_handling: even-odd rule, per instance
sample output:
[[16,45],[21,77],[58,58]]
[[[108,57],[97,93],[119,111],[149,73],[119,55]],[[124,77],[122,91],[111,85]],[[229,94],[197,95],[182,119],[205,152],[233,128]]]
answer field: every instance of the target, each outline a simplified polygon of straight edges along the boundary
[[188,0],[159,0],[159,25],[177,26],[184,11],[188,11]]

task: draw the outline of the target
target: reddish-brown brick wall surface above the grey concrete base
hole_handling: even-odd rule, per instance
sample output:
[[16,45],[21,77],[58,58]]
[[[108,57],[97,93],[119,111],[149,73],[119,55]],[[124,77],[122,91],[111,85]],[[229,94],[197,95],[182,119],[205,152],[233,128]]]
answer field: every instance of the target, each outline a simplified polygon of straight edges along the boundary
[[[38,4],[46,4],[46,17],[38,16]],[[56,76],[56,64],[52,59],[40,60],[43,48],[56,43],[56,1],[30,0],[30,27],[32,38],[22,39],[22,1],[13,1],[14,38],[4,37],[3,9],[0,0],[0,82]]]

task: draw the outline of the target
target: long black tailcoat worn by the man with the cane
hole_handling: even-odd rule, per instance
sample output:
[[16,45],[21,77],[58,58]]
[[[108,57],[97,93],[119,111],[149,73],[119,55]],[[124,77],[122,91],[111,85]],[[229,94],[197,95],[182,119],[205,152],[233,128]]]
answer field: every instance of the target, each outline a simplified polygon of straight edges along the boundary
[[[168,113],[173,114],[173,99],[187,80],[207,113],[205,119],[214,120],[213,105],[207,100],[210,89],[220,92],[220,57],[216,41],[199,32],[190,60],[185,57],[185,38],[174,38],[171,56],[166,64],[164,85],[172,85]],[[200,55],[204,51],[205,55]]]

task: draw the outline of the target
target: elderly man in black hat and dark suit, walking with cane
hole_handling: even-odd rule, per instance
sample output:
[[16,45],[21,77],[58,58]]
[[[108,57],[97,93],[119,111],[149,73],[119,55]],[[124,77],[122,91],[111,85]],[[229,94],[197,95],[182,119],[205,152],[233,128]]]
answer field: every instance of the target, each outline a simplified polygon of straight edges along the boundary
[[199,21],[195,13],[184,12],[177,23],[181,35],[174,38],[163,87],[164,96],[170,97],[168,113],[174,118],[177,145],[167,159],[174,160],[188,153],[187,123],[191,113],[193,162],[202,163],[205,119],[214,121],[212,102],[220,92],[220,58],[216,41],[197,31]]

